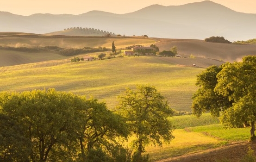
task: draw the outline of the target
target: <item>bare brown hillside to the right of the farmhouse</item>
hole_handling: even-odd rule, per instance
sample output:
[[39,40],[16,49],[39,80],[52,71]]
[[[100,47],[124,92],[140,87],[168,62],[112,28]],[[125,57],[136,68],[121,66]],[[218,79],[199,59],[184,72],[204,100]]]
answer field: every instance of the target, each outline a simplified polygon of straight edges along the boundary
[[256,44],[220,44],[208,43],[195,39],[162,39],[156,38],[156,45],[160,50],[170,50],[177,46],[181,56],[189,57],[191,54],[203,58],[211,58],[224,62],[241,61],[244,56],[256,55]]

